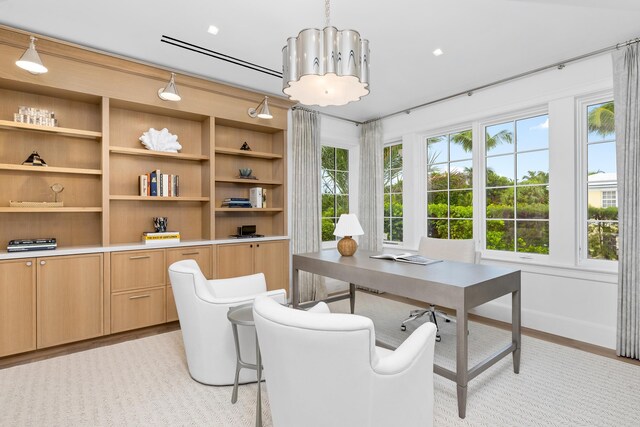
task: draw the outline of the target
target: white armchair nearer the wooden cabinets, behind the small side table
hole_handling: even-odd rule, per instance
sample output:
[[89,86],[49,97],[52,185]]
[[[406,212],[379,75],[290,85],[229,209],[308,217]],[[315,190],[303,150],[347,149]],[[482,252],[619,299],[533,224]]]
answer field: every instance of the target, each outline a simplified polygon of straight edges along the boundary
[[[253,302],[266,295],[284,304],[284,289],[267,291],[262,273],[231,279],[207,280],[194,260],[178,261],[169,266],[169,277],[178,309],[187,365],[191,377],[203,384],[233,384],[236,351],[227,319],[229,307]],[[242,357],[255,363],[255,335],[239,328]],[[255,382],[256,372],[243,369],[240,383]]]

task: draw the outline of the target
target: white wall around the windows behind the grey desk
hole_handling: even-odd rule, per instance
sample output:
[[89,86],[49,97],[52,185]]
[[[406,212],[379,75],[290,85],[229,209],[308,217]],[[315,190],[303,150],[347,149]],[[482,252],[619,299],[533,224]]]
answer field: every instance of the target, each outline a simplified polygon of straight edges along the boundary
[[[549,256],[523,259],[483,251],[482,263],[522,269],[522,323],[564,337],[615,348],[617,266],[580,260],[577,148],[577,101],[612,92],[609,55],[563,70],[549,70],[491,89],[384,120],[386,143],[402,141],[405,158],[405,246],[415,249],[425,234],[424,138],[439,131],[481,124],[495,116],[545,109],[550,121],[550,247]],[[426,101],[426,100],[425,100]],[[408,163],[411,162],[411,163]],[[474,164],[475,166],[476,164]],[[476,216],[477,217],[477,216]],[[478,228],[474,228],[477,237]],[[478,240],[479,241],[479,240]],[[475,312],[510,320],[510,299],[503,298]]]

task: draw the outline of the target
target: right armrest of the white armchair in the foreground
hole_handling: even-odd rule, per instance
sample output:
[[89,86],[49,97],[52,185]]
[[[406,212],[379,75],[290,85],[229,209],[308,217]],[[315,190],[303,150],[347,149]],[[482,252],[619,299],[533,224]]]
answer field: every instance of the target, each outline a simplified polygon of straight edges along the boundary
[[425,323],[416,329],[393,353],[382,356],[373,366],[380,375],[394,375],[409,368],[424,353],[426,347],[435,345],[436,326]]

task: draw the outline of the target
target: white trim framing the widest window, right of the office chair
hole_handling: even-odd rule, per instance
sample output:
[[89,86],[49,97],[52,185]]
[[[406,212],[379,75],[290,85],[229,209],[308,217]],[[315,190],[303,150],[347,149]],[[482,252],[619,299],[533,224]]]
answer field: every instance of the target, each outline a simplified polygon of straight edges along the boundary
[[[474,149],[473,155],[477,160],[477,164],[474,163],[474,176],[473,182],[479,185],[479,189],[482,191],[476,191],[478,193],[478,198],[475,199],[477,201],[474,206],[473,218],[476,220],[477,218],[477,231],[474,228],[474,235],[477,236],[477,242],[480,243],[477,246],[480,250],[482,258],[493,259],[493,260],[503,260],[503,261],[529,261],[529,262],[541,262],[547,263],[549,262],[552,250],[553,250],[553,236],[551,233],[551,229],[549,230],[549,254],[535,254],[535,253],[526,253],[526,252],[517,252],[517,251],[499,251],[493,249],[487,249],[487,215],[486,215],[486,153],[485,153],[485,132],[488,126],[501,124],[504,122],[522,120],[530,117],[536,117],[541,115],[549,115],[549,107],[548,105],[530,107],[527,109],[522,109],[518,111],[511,111],[506,114],[493,116],[484,120],[480,120],[477,122],[477,133],[476,128],[474,127]],[[549,116],[549,119],[551,117]],[[477,136],[477,143],[476,143]],[[551,153],[551,139],[549,140],[549,153]],[[549,175],[551,175],[552,171],[549,168]],[[549,194],[553,191],[551,179],[549,180]],[[551,206],[549,206],[549,211],[551,212]],[[551,225],[551,215],[549,215],[549,225]]]

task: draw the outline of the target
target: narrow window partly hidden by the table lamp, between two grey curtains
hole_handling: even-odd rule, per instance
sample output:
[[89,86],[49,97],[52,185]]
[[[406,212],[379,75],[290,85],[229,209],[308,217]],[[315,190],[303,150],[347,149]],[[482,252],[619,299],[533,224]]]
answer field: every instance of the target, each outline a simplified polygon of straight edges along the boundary
[[338,218],[349,213],[349,150],[322,146],[322,241],[336,240]]

